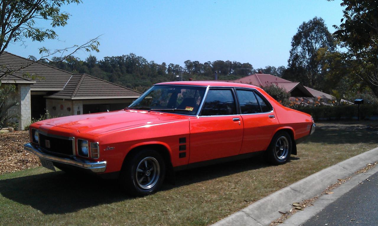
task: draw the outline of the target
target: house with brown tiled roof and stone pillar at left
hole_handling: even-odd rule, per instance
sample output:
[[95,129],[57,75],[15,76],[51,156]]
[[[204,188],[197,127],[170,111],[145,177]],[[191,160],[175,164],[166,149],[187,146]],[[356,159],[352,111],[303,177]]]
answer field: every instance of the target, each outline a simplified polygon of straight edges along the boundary
[[[1,82],[17,87],[19,130],[46,110],[57,117],[120,110],[141,95],[88,74],[69,73],[8,52],[0,57],[0,71],[6,69],[16,71],[2,77]],[[31,79],[33,76],[37,78]]]

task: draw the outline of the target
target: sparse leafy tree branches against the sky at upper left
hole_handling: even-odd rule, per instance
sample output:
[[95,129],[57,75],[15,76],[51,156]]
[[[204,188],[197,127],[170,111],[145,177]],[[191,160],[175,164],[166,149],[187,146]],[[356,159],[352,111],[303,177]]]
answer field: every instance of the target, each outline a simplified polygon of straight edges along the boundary
[[[51,28],[67,25],[69,17],[68,12],[62,12],[60,9],[63,5],[71,3],[79,4],[81,0],[1,0],[0,2],[0,56],[8,47],[9,43],[20,42],[24,44],[24,39],[43,42],[46,39],[56,39],[57,34]],[[39,23],[44,20],[50,23],[51,28],[41,28]],[[54,54],[60,54],[62,59],[71,56],[77,50],[96,51],[98,52],[98,38],[91,39],[82,45],[73,45],[68,48],[62,48],[50,51],[45,47],[39,48],[42,58],[29,56],[34,62],[48,60],[48,57]],[[63,55],[67,54],[67,55]],[[16,71],[20,71],[29,65],[20,65],[19,68],[8,68],[6,65],[0,65],[2,70],[0,78]],[[25,74],[24,76],[35,79],[35,75]]]

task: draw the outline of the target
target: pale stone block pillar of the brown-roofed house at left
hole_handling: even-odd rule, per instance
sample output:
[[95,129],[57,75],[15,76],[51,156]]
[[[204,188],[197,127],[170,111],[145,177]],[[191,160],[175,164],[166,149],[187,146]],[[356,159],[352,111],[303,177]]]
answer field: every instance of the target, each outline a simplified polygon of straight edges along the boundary
[[31,121],[30,84],[18,85],[18,90],[20,94],[19,130],[23,130]]

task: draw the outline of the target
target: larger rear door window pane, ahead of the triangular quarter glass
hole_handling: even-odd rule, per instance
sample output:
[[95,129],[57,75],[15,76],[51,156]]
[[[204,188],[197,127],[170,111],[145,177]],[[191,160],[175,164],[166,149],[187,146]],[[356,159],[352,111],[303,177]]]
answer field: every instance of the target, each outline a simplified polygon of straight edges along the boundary
[[253,91],[236,90],[241,114],[261,113],[259,103]]

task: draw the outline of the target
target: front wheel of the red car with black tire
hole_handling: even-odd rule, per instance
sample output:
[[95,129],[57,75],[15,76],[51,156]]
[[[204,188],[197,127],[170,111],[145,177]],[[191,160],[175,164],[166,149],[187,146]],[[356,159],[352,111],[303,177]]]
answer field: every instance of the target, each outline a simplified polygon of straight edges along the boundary
[[165,163],[155,150],[139,150],[121,169],[119,182],[127,193],[144,196],[156,192],[164,181]]

